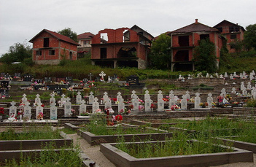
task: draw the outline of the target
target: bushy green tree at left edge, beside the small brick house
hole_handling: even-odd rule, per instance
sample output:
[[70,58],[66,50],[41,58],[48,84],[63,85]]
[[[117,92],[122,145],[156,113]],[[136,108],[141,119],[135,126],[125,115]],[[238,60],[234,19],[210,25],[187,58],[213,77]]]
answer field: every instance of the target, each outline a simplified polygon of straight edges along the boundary
[[4,63],[12,63],[15,61],[23,62],[24,59],[32,58],[32,48],[26,43],[15,43],[9,47],[9,52],[1,55],[0,61]]

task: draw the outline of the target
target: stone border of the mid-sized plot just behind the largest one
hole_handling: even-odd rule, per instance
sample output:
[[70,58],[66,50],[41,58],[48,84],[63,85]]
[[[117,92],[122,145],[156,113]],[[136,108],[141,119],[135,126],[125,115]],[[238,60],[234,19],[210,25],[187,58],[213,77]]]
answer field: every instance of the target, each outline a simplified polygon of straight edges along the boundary
[[[157,130],[157,129],[155,129]],[[159,130],[163,131],[163,130]],[[139,133],[139,134],[120,134],[120,135],[98,135],[88,131],[78,130],[77,134],[82,136],[83,139],[88,141],[88,143],[93,146],[101,143],[114,143],[119,137],[123,137],[125,142],[128,141],[143,141],[144,139],[152,139],[153,141],[165,140],[167,137],[171,138],[173,133],[168,133],[168,131],[163,131],[163,133]]]

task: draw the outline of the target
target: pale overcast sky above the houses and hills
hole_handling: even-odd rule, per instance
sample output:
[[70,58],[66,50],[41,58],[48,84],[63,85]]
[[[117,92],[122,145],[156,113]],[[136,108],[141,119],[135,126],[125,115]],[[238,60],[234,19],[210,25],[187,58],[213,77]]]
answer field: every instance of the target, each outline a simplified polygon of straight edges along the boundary
[[98,34],[104,28],[136,24],[158,36],[194,23],[195,18],[207,26],[228,20],[246,28],[256,23],[256,1],[0,0],[0,55],[17,42],[28,42],[44,28]]

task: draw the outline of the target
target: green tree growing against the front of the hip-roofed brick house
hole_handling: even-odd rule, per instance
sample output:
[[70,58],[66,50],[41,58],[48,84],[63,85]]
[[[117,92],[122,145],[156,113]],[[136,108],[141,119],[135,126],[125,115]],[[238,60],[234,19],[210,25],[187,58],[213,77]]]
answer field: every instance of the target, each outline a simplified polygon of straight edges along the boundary
[[210,42],[209,39],[202,39],[199,41],[199,45],[195,47],[193,54],[196,70],[208,71],[209,73],[217,71],[217,58],[214,54],[214,50],[214,43]]

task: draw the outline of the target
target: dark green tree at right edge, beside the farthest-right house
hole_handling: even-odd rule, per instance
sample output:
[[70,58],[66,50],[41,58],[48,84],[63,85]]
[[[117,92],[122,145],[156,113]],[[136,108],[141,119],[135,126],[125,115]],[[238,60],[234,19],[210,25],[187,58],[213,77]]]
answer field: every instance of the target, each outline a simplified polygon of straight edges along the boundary
[[244,32],[244,45],[247,50],[254,48],[256,50],[256,24],[247,26]]

